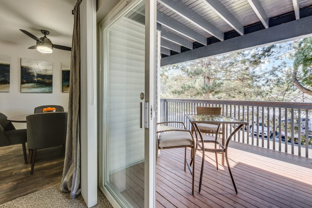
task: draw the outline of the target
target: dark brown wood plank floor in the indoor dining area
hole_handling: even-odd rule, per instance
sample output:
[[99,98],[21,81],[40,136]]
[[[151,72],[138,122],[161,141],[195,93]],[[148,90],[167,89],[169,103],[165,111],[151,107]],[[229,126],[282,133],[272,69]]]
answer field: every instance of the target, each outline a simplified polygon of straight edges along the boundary
[[62,146],[37,150],[33,175],[24,163],[21,144],[1,147],[0,204],[60,183],[63,166]]

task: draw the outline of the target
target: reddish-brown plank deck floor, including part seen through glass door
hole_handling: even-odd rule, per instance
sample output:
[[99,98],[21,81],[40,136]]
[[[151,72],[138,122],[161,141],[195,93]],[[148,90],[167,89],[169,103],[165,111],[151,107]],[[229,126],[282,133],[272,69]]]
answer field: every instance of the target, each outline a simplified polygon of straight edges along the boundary
[[[157,207],[312,207],[311,159],[231,141],[228,154],[238,194],[227,166],[221,165],[221,154],[216,169],[214,153],[206,153],[198,193],[201,154],[197,151],[193,196],[191,174],[188,169],[184,172],[184,149],[161,150],[156,166]],[[124,178],[121,195],[133,207],[143,207],[144,163],[113,175]]]

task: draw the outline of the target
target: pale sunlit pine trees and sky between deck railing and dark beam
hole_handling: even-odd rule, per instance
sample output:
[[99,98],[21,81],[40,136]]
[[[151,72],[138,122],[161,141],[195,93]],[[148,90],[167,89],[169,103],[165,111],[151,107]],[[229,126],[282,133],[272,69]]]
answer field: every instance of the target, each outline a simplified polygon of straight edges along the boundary
[[297,76],[311,84],[311,41],[290,41],[163,67],[161,97],[307,100],[293,85],[292,71],[295,59],[303,71]]

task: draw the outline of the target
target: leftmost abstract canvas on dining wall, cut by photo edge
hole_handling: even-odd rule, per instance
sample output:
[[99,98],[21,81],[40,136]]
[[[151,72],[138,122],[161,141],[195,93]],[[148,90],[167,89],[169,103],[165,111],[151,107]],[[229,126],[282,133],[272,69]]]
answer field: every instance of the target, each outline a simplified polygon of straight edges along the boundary
[[0,54],[0,92],[10,91],[10,56]]

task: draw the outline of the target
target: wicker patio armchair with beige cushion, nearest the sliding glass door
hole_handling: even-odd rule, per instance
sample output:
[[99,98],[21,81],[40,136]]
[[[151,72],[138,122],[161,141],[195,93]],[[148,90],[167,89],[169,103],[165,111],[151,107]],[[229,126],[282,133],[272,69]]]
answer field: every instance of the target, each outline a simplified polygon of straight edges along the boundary
[[[190,130],[187,130],[183,122],[168,121],[157,123],[157,125],[165,123],[182,123],[184,129],[165,129],[159,130],[156,133],[156,164],[158,158],[158,149],[172,149],[172,148],[185,148],[184,153],[184,171],[186,170],[186,164],[188,169],[192,174],[192,194],[194,195],[194,172],[195,164],[193,163],[193,170],[191,169],[190,164],[186,158],[186,148],[191,148],[191,159],[195,159],[195,139]],[[161,128],[160,128],[161,129]]]

